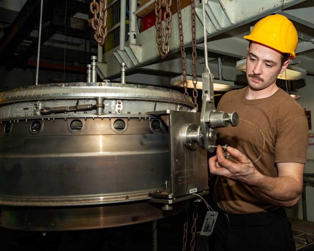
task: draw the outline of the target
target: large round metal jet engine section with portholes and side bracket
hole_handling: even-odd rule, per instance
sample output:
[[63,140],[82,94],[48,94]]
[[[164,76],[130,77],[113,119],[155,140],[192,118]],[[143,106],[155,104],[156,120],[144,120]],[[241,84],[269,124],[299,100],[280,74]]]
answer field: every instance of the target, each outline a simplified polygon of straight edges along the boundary
[[182,144],[182,126],[199,125],[192,109],[187,95],[136,84],[0,93],[0,225],[90,229],[184,210],[208,193],[206,151]]

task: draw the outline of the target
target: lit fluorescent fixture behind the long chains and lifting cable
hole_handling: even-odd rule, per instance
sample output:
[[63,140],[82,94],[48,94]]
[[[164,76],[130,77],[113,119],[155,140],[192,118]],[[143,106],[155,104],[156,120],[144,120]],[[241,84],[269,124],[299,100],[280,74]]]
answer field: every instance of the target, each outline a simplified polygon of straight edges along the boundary
[[[173,86],[183,87],[183,76],[180,75],[178,77],[171,78],[170,84]],[[214,91],[227,92],[232,90],[234,87],[235,85],[232,81],[214,79]],[[187,76],[187,88],[194,88],[192,76]],[[196,88],[203,89],[203,82],[201,77],[197,78]]]

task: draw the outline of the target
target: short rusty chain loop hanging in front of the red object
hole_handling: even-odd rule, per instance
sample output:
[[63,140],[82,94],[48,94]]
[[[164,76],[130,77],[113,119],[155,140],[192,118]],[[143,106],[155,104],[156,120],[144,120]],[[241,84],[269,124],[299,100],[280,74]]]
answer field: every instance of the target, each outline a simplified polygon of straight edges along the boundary
[[[161,23],[162,21],[161,1],[162,0],[155,0],[155,15],[156,15],[155,27],[157,30],[156,42],[158,45],[158,51],[161,58],[165,59],[168,52],[170,51],[170,42],[168,40],[169,40],[169,37],[171,36],[171,27],[169,26],[169,23],[171,22],[171,16],[172,16],[172,13],[170,10],[172,0],[165,0],[166,10],[164,13],[164,20],[166,21],[166,25],[164,28],[162,27],[162,23]],[[166,32],[166,30],[168,32]],[[164,37],[165,37],[165,41],[164,41]]]

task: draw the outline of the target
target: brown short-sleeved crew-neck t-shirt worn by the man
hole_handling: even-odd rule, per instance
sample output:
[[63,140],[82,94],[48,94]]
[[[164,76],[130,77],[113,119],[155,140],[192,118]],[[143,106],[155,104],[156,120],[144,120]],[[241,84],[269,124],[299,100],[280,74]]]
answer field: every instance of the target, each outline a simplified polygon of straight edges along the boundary
[[[306,163],[308,125],[300,104],[282,89],[268,98],[254,100],[244,98],[246,90],[247,87],[225,93],[217,108],[228,113],[236,111],[240,119],[253,123],[263,132],[265,148],[254,167],[264,175],[278,177],[276,163]],[[218,128],[218,143],[228,144],[254,161],[263,149],[263,136],[254,125],[240,120],[236,127]],[[223,176],[217,177],[214,201],[222,210],[234,214],[278,208],[259,197],[249,186]]]

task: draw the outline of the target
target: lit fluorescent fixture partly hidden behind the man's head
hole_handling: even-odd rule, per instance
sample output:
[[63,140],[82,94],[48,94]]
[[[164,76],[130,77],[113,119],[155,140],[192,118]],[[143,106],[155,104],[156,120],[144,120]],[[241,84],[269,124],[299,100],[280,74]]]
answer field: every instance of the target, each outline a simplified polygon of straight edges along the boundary
[[[246,71],[246,58],[236,62],[236,68],[240,71]],[[278,75],[277,78],[286,80],[297,80],[306,76],[306,70],[294,65],[288,65],[287,69]]]

